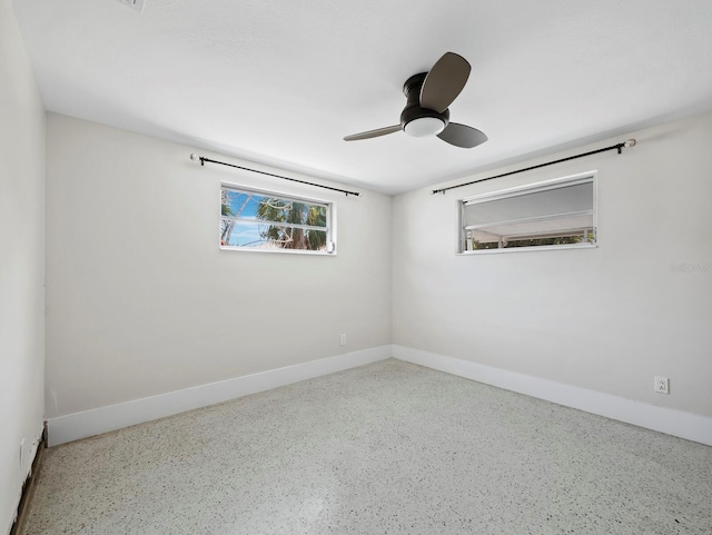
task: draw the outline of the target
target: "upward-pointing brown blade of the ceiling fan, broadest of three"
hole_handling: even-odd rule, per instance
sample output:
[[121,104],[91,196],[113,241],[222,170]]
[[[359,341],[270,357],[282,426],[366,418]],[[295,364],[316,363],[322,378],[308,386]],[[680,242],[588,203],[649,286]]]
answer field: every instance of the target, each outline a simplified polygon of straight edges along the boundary
[[445,111],[467,83],[472,67],[465,58],[446,52],[425,77],[421,89],[421,107]]

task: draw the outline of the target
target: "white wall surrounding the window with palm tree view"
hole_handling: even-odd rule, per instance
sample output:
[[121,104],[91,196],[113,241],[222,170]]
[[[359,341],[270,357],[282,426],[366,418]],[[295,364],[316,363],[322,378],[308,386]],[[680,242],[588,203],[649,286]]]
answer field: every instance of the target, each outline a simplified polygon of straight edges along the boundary
[[[50,418],[390,343],[390,197],[200,167],[190,152],[240,162],[55,113],[47,129]],[[221,181],[335,201],[338,255],[220,250]]]

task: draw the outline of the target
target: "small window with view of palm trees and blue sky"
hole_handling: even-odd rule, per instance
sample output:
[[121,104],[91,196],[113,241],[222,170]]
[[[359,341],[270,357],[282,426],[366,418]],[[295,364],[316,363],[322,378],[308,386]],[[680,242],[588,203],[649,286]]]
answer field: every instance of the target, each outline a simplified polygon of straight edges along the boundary
[[220,205],[220,246],[224,248],[336,251],[330,202],[224,185]]

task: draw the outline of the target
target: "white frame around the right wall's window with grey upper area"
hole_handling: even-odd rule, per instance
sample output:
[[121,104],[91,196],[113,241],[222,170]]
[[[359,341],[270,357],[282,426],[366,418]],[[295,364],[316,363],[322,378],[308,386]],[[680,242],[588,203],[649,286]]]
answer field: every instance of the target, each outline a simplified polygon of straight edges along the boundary
[[[466,249],[467,247],[467,228],[464,225],[465,221],[465,207],[473,204],[487,202],[494,200],[502,200],[506,198],[512,198],[516,196],[527,195],[527,194],[536,194],[541,191],[547,191],[553,189],[565,188],[568,186],[576,186],[580,184],[592,184],[593,188],[593,202],[592,202],[592,216],[593,216],[593,241],[592,242],[582,242],[582,244],[560,244],[560,245],[541,245],[541,246],[524,246],[524,247],[511,247],[511,248],[496,248],[496,249]],[[512,188],[498,189],[496,191],[488,191],[486,194],[478,194],[471,197],[465,197],[459,199],[457,205],[459,208],[458,214],[458,256],[469,256],[469,255],[492,255],[492,254],[502,254],[502,252],[525,252],[533,250],[557,250],[557,249],[593,249],[599,246],[599,201],[597,201],[597,182],[599,182],[599,171],[592,170],[586,172],[580,172],[576,175],[570,175],[566,177],[554,178],[550,180],[542,180],[537,182],[531,182],[523,186],[515,186]],[[525,218],[526,219],[526,218]],[[533,220],[534,218],[530,218]],[[550,232],[550,237],[552,234]],[[523,237],[523,236],[522,236]],[[536,239],[536,236],[532,236],[533,239]]]

